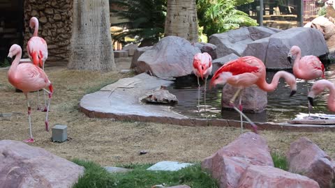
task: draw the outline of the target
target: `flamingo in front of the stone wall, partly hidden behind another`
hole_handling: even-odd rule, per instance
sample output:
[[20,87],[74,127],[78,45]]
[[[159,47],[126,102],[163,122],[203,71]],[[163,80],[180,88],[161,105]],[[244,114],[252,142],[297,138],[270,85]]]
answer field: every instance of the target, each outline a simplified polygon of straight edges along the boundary
[[[34,28],[33,37],[29,39],[27,43],[27,52],[30,60],[34,63],[34,65],[42,68],[44,70],[44,63],[47,60],[47,42],[43,38],[37,36],[38,33],[38,19],[36,17],[31,17],[29,22],[29,27],[31,29]],[[40,109],[40,93],[38,92],[38,100],[37,100],[37,109]],[[46,111],[46,100],[45,100],[45,91],[44,93],[44,104],[45,108],[43,111]]]

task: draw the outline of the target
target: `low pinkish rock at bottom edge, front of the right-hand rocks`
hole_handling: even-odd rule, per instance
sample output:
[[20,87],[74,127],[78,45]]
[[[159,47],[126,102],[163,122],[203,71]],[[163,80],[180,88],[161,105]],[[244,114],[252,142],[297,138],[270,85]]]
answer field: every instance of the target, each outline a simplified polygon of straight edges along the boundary
[[304,175],[290,173],[273,166],[250,165],[241,175],[239,188],[318,188],[318,182]]

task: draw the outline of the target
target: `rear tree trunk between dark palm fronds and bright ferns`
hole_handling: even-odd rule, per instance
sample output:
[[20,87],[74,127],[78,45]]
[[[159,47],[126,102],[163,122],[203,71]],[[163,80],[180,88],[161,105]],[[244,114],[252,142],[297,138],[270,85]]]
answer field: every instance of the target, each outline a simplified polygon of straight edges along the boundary
[[168,0],[165,36],[179,36],[198,42],[198,19],[195,0]]

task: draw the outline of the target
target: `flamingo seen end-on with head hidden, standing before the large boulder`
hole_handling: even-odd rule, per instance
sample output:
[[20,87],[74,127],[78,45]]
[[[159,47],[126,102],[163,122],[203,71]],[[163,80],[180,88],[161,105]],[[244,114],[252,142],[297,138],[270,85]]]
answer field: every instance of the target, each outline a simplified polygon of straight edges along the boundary
[[207,78],[211,74],[211,56],[207,53],[197,53],[193,58],[193,72],[198,77],[198,111],[200,111],[200,82],[199,77],[204,79],[204,111],[206,111],[206,85]]

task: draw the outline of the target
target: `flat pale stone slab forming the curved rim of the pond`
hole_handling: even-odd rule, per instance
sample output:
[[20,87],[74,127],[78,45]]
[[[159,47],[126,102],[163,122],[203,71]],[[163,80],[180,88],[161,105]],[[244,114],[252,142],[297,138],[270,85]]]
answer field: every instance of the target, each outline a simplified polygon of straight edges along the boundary
[[[80,100],[80,111],[90,118],[112,118],[114,120],[134,120],[140,122],[168,123],[186,126],[240,127],[238,120],[203,119],[183,116],[173,107],[144,104],[139,98],[148,91],[161,86],[170,86],[173,81],[151,77],[142,73],[131,78],[119,79],[114,84],[101,88],[101,91],[84,95]],[[322,132],[335,130],[332,125],[311,125],[308,123],[255,123],[258,130],[288,130],[295,132]],[[244,122],[246,129],[251,129]]]

